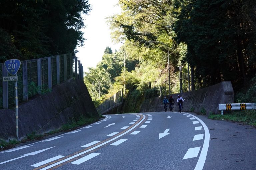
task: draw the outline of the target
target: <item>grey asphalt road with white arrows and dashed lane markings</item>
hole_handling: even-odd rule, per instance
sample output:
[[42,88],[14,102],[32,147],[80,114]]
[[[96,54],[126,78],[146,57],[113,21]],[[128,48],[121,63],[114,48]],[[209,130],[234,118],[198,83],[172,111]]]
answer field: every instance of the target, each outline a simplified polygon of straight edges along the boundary
[[182,112],[105,115],[0,152],[2,170],[253,170],[256,129]]

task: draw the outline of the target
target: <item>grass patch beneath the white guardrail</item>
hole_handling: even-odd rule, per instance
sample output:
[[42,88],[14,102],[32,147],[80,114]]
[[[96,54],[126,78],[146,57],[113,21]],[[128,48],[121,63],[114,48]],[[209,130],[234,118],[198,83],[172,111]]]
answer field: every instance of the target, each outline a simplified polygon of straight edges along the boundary
[[216,120],[228,120],[241,122],[248,125],[256,126],[256,110],[232,111],[226,114],[212,114],[208,118]]

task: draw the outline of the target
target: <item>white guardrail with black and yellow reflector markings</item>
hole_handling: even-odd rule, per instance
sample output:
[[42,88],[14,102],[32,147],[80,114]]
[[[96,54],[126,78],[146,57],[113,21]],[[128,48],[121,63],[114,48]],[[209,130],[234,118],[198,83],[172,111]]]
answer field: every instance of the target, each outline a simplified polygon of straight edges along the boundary
[[231,103],[231,104],[219,104],[219,110],[223,115],[224,110],[251,110],[256,109],[256,103]]

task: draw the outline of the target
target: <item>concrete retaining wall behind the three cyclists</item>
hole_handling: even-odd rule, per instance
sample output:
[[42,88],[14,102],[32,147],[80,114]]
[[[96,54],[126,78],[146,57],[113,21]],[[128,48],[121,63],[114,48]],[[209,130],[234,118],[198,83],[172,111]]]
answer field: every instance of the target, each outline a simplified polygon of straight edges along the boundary
[[[219,103],[234,102],[234,91],[231,82],[221,82],[196,91],[171,94],[175,100],[174,111],[178,111],[178,94],[185,99],[182,111],[194,110],[193,112],[201,112],[201,109],[204,108],[207,115],[209,113],[219,113]],[[166,97],[169,98],[169,96]],[[164,96],[144,100],[140,112],[164,111],[163,99]]]

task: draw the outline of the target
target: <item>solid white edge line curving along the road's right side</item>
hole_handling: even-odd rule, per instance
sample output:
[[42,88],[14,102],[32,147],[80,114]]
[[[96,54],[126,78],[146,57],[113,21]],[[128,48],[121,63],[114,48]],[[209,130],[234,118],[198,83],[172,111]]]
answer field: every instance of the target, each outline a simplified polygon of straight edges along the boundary
[[190,113],[187,113],[193,117],[195,117],[204,127],[204,132],[205,132],[205,136],[204,136],[204,144],[203,144],[203,147],[202,147],[202,150],[201,150],[201,153],[200,153],[200,156],[198,158],[198,161],[197,161],[197,164],[196,164],[196,167],[194,170],[202,170],[203,167],[204,167],[204,163],[205,163],[205,160],[206,160],[206,156],[207,156],[207,152],[208,152],[208,148],[209,148],[209,142],[210,142],[210,133],[209,133],[209,129],[208,127],[206,126],[206,124],[201,120],[199,119],[198,117],[194,116],[193,114],[190,114]]

